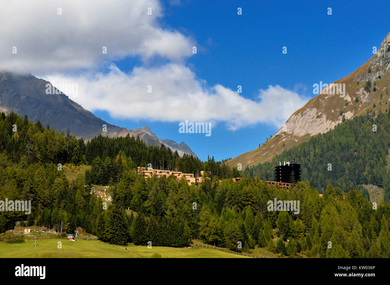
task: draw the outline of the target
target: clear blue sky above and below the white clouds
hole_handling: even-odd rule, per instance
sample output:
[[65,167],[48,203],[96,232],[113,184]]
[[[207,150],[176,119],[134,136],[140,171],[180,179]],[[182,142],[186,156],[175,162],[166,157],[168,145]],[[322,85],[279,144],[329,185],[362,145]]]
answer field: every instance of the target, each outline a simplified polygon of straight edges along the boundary
[[[379,48],[390,31],[389,2],[376,5],[381,9],[355,1],[304,1],[300,5],[287,1],[255,2],[200,5],[184,1],[170,5],[168,1],[164,2],[166,15],[162,19],[164,25],[183,29],[199,42],[202,51],[188,60],[198,77],[232,90],[242,85],[242,94],[247,98],[253,99],[259,89],[278,84],[310,99],[315,96],[314,83],[331,83],[353,72],[372,56],[372,47]],[[237,7],[242,8],[241,16],[236,13]],[[328,7],[332,8],[332,15],[327,14]],[[287,47],[287,54],[282,54],[283,46]],[[123,63],[118,62],[117,66],[124,70],[141,64],[131,60]],[[212,135],[206,137],[179,134],[177,123],[122,121],[113,120],[106,112],[95,114],[123,127],[148,125],[163,139],[186,142],[202,160],[207,155],[216,160],[234,158],[255,149],[278,130],[259,123],[231,131],[218,123],[212,127]]]

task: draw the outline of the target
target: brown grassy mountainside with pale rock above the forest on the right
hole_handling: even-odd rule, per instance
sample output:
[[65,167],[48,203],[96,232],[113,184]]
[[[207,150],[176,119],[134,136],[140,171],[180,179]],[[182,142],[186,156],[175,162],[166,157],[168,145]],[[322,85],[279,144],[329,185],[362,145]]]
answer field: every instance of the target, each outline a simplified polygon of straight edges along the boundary
[[328,132],[345,120],[367,112],[378,114],[379,110],[382,113],[389,111],[389,71],[390,33],[376,54],[361,67],[327,87],[319,86],[319,90],[324,89],[295,111],[268,141],[227,163],[236,167],[239,163],[242,167],[264,163],[313,135]]

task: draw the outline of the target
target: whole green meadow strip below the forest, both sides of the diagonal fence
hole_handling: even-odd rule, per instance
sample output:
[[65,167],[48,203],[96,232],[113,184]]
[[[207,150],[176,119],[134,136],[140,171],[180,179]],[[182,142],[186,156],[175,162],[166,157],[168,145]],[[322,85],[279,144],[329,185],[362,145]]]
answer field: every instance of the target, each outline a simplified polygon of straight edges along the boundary
[[[58,248],[58,241],[62,242],[62,248]],[[41,239],[37,240],[34,248],[34,239],[26,239],[26,243],[0,243],[1,258],[149,258],[153,253],[160,253],[163,258],[250,258],[242,255],[222,252],[211,248],[172,248],[165,246],[127,245],[113,246],[102,241],[86,241],[78,239],[67,241],[66,239]],[[131,254],[125,248],[128,248]]]

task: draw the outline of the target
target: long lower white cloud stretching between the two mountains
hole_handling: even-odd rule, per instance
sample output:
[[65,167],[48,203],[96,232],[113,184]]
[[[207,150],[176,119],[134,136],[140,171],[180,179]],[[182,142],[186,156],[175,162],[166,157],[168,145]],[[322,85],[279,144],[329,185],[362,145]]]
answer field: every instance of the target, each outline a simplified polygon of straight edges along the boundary
[[[90,111],[106,110],[113,118],[158,121],[225,122],[236,130],[256,123],[280,127],[307,99],[278,85],[259,90],[258,100],[241,96],[220,84],[209,87],[188,67],[169,63],[130,74],[110,65],[94,76],[47,76],[57,83],[77,83],[78,102]],[[147,92],[151,86],[152,93]]]

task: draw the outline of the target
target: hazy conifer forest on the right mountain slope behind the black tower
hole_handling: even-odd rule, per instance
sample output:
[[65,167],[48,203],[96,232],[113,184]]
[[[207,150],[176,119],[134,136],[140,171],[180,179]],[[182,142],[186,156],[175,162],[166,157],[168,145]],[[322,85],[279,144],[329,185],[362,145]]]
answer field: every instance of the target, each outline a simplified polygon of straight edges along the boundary
[[[245,172],[252,177],[273,180],[275,165],[295,159],[301,164],[301,179],[310,181],[320,193],[328,183],[344,191],[349,186],[372,184],[384,188],[384,199],[389,201],[386,155],[390,147],[390,114],[379,110],[378,116],[372,115],[347,120],[325,134],[275,155],[271,162],[247,168]],[[367,190],[362,191],[368,197]]]

